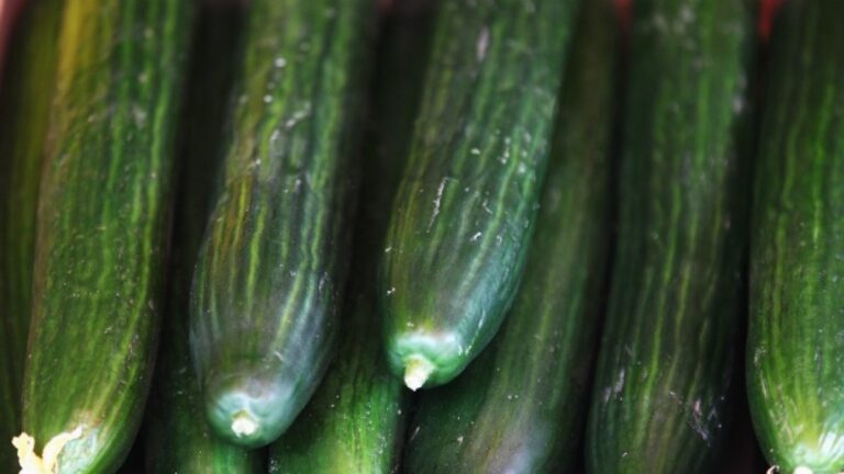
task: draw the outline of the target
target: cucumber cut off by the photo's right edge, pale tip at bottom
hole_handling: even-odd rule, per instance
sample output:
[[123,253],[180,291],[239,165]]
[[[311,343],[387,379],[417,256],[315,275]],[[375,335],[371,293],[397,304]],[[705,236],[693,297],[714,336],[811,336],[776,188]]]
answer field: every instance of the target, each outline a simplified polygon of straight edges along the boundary
[[780,473],[844,471],[844,29],[792,1],[770,45],[751,236],[747,390]]

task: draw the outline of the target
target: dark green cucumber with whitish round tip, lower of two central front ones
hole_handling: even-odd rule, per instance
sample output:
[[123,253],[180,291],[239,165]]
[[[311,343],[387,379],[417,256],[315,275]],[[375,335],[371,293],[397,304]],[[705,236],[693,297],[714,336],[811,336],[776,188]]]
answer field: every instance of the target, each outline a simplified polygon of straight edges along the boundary
[[369,0],[251,5],[190,327],[206,417],[243,447],[290,426],[333,351],[374,18]]

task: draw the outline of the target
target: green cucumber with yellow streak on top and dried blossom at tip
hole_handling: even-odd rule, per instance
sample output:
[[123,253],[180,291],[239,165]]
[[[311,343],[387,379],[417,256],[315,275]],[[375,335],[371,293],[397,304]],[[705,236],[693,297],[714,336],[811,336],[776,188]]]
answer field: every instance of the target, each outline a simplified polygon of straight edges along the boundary
[[[26,473],[111,472],[137,431],[157,346],[189,5],[65,3],[14,441]],[[58,451],[57,465],[42,450]]]

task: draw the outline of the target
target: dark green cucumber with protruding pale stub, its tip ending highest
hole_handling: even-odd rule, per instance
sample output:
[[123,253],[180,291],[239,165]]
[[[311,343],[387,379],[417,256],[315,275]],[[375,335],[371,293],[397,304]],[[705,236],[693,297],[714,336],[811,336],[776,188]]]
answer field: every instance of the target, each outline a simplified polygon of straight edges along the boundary
[[521,279],[573,0],[440,7],[379,286],[387,356],[413,390],[457,376]]

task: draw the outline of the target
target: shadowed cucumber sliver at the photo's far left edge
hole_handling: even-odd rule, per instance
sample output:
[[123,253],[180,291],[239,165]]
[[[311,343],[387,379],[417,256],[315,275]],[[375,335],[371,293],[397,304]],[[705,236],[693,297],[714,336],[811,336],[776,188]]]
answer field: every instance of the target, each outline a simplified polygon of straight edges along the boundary
[[0,471],[18,465],[21,383],[32,301],[35,214],[62,2],[32,2],[11,33],[0,95]]

